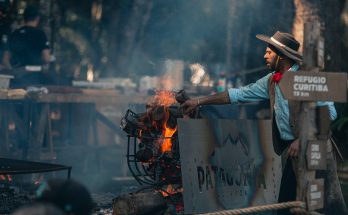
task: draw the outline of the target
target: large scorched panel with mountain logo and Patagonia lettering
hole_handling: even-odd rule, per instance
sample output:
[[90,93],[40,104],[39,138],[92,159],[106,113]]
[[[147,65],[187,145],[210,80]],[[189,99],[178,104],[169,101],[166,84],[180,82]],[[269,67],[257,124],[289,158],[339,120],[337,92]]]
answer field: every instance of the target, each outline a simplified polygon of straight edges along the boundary
[[281,181],[270,120],[178,119],[185,214],[273,204]]

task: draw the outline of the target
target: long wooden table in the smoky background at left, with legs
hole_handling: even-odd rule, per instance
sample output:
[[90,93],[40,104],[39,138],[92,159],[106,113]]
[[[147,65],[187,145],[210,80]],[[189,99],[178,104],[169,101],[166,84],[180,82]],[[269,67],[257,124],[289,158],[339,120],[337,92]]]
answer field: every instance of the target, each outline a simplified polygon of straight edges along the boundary
[[[121,132],[118,125],[115,125],[108,117],[104,116],[97,110],[96,104],[118,104],[128,105],[129,103],[145,103],[147,96],[144,95],[120,95],[114,90],[97,90],[97,89],[77,89],[71,87],[53,87],[48,88],[48,94],[26,93],[23,90],[0,90],[0,105],[2,113],[8,113],[13,104],[23,105],[24,117],[12,113],[16,126],[24,139],[27,140],[23,150],[23,159],[28,158],[28,151],[31,148],[38,149],[43,144],[45,134],[48,137],[49,153],[48,157],[54,157],[52,143],[52,122],[50,118],[50,108],[54,104],[83,104],[88,106],[89,114],[86,120],[92,128],[93,143],[98,145],[97,121],[102,122],[113,132]],[[35,115],[34,112],[40,107],[40,113]],[[11,111],[15,112],[15,111]],[[8,114],[3,114],[1,118],[5,119],[4,124],[8,123]],[[35,126],[33,126],[35,124]],[[71,126],[71,125],[67,125]],[[7,127],[5,127],[6,131]],[[88,131],[86,134],[88,135]],[[5,145],[8,146],[8,135],[4,132]],[[71,134],[74,135],[74,134]],[[83,138],[87,138],[87,135]],[[46,156],[47,157],[47,156]],[[38,160],[39,157],[32,158]]]

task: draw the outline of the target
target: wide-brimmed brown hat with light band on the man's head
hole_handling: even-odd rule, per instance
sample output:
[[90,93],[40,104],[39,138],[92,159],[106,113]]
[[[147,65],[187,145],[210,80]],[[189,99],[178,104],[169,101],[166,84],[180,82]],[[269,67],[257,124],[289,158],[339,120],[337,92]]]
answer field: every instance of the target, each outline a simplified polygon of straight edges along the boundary
[[302,62],[302,55],[298,52],[300,43],[291,34],[277,31],[272,37],[258,34],[256,38],[274,46],[279,52],[290,59]]

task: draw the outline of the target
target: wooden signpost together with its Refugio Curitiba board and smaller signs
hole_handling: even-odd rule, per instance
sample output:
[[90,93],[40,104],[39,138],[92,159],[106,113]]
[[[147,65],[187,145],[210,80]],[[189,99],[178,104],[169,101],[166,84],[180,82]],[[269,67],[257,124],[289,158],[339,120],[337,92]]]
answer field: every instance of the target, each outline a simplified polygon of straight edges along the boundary
[[[330,117],[327,106],[317,106],[317,101],[345,102],[347,99],[347,74],[318,72],[323,68],[323,40],[320,23],[305,24],[304,71],[285,73],[279,87],[288,100],[301,102],[300,152],[297,171],[297,200],[306,202],[308,214],[318,214],[317,209],[340,211],[346,214],[346,206],[339,186],[336,164],[328,143]],[[317,81],[314,81],[317,80]],[[316,170],[326,170],[324,179],[316,179]],[[325,192],[327,193],[324,193]],[[334,202],[334,203],[333,203]]]

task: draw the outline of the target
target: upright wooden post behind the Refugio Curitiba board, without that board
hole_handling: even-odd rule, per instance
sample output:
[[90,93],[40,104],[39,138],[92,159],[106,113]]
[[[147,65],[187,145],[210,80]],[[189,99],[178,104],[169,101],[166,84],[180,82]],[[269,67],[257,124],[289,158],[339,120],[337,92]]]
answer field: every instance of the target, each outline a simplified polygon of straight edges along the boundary
[[[304,67],[305,70],[319,71],[318,44],[320,39],[320,23],[313,21],[304,26]],[[321,50],[322,51],[322,50]],[[307,165],[307,151],[316,153],[319,158],[326,155],[326,142],[318,142],[316,137],[316,102],[301,102],[300,113],[300,153],[297,174],[297,200],[307,203],[307,210],[314,212],[324,205],[324,181],[315,179],[315,169],[309,169]],[[309,148],[309,142],[311,147]],[[321,151],[319,149],[322,149]],[[323,152],[323,149],[324,152]],[[306,159],[307,158],[307,159]],[[314,162],[315,163],[315,162]],[[326,163],[323,165],[325,168]]]

